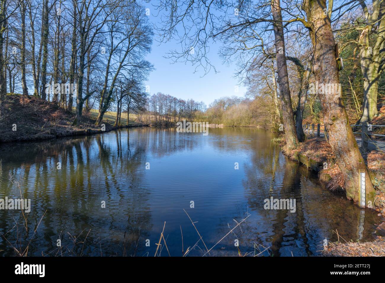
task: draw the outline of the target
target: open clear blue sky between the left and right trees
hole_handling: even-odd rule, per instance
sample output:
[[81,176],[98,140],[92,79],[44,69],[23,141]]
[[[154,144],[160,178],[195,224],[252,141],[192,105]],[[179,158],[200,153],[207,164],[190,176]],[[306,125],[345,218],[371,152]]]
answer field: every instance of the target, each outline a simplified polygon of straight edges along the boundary
[[[154,17],[153,14],[156,14],[157,11],[149,3],[146,7],[151,10],[150,21],[155,23],[157,17]],[[235,86],[238,85],[238,80],[233,77],[236,65],[223,65],[219,58],[220,44],[211,46],[208,54],[211,64],[219,72],[215,73],[214,70],[211,70],[204,75],[203,69],[194,73],[196,66],[192,66],[190,62],[172,64],[172,60],[164,58],[164,56],[171,49],[180,48],[180,45],[177,45],[176,41],[159,45],[156,39],[157,35],[154,35],[151,54],[146,57],[156,69],[151,72],[149,80],[146,82],[146,85],[150,87],[151,95],[162,92],[181,99],[192,98],[196,101],[203,101],[206,105],[223,96],[244,96],[246,87],[243,85],[239,85],[238,93],[235,92]]]

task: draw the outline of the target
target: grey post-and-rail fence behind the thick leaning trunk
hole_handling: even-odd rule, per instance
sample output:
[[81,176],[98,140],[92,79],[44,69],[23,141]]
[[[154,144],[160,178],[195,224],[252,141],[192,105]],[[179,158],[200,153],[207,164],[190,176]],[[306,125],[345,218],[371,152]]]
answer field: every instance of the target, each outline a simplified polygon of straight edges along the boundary
[[[317,127],[316,131],[315,131],[315,126]],[[361,135],[361,147],[363,148],[364,151],[368,150],[368,144],[374,144],[378,150],[385,151],[385,146],[384,148],[378,147],[378,142],[375,142],[370,138],[370,136],[385,137],[385,135],[370,133],[373,127],[385,127],[385,125],[372,125],[372,124],[368,124],[367,122],[363,122],[360,125],[350,125],[350,126],[353,127],[353,129],[354,127],[361,127],[361,132],[353,132],[353,134]],[[328,130],[326,129],[325,125],[303,124],[302,127],[305,134],[308,134],[308,135],[312,134],[313,136],[315,136],[315,133],[316,133],[318,137],[320,137],[321,134],[323,134],[326,139],[329,139]]]

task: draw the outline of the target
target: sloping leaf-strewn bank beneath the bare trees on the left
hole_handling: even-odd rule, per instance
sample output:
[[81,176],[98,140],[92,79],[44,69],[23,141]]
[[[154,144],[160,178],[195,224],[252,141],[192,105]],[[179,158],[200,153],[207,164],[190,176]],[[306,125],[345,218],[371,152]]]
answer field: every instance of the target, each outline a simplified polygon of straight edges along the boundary
[[[97,111],[84,113],[79,126],[73,126],[74,113],[66,111],[53,102],[23,95],[6,95],[0,108],[0,142],[36,141],[56,137],[79,136],[108,132],[127,127],[127,114],[122,113],[122,126],[113,127],[115,112],[107,112],[102,127],[95,126]],[[145,126],[132,121],[129,127]]]

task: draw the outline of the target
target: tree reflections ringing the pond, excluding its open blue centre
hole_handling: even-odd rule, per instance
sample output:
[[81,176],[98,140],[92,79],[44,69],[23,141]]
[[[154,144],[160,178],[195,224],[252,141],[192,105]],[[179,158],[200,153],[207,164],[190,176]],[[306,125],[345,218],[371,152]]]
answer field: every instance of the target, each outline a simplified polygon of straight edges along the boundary
[[[145,239],[152,230],[149,189],[146,188],[145,163],[151,157],[162,157],[178,151],[194,151],[210,146],[231,153],[240,152],[250,157],[243,181],[247,206],[237,208],[234,218],[251,217],[237,231],[240,248],[253,248],[253,242],[271,246],[275,255],[314,254],[322,239],[336,240],[332,230],[338,229],[346,240],[358,234],[359,209],[346,199],[329,193],[314,181],[305,167],[286,160],[278,146],[270,142],[269,134],[256,133],[247,128],[209,129],[210,142],[201,133],[177,133],[173,127],[136,128],[102,135],[59,139],[44,142],[10,144],[0,147],[0,196],[18,197],[19,192],[9,181],[9,174],[22,178],[23,197],[30,198],[32,210],[29,236],[41,216],[36,241],[29,255],[47,254],[56,249],[60,235],[62,245],[70,245],[67,232],[87,236],[85,255],[136,255],[144,253]],[[185,135],[185,136],[179,136]],[[57,162],[62,169],[57,170]],[[296,198],[296,212],[265,210],[264,199]],[[106,202],[102,209],[101,201]],[[363,224],[363,239],[370,238],[370,229],[377,220],[367,211]],[[13,219],[20,221],[19,211],[0,211],[0,232],[13,227]],[[231,219],[231,218],[230,218]],[[223,236],[226,218],[219,221]],[[231,221],[231,220],[230,220]],[[234,226],[235,224],[233,223]],[[20,226],[21,228],[21,226]],[[22,234],[27,238],[28,235]],[[8,234],[12,240],[12,234]],[[13,236],[13,240],[15,237]],[[125,243],[125,244],[124,244]],[[234,237],[222,245],[234,248]],[[125,245],[125,247],[124,247]],[[82,245],[77,249],[81,250]],[[143,251],[141,250],[143,249]],[[0,255],[13,251],[0,238]],[[228,249],[230,250],[230,249]],[[227,251],[227,250],[226,250]],[[75,250],[75,253],[80,253]]]

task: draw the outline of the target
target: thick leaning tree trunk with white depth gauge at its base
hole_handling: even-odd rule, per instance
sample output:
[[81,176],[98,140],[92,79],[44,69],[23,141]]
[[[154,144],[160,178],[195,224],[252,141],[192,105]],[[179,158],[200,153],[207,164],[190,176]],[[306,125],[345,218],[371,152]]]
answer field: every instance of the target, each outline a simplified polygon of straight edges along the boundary
[[[331,31],[331,22],[325,15],[326,0],[305,0],[303,9],[310,25],[311,40],[314,48],[313,72],[318,84],[330,86],[340,84],[335,53],[335,40]],[[321,101],[323,121],[329,134],[329,143],[336,156],[336,161],[345,178],[346,197],[355,203],[360,195],[359,169],[366,173],[366,201],[375,199],[375,191],[368,174],[368,169],[358,149],[352,128],[346,114],[341,95],[336,92],[318,91]]]

